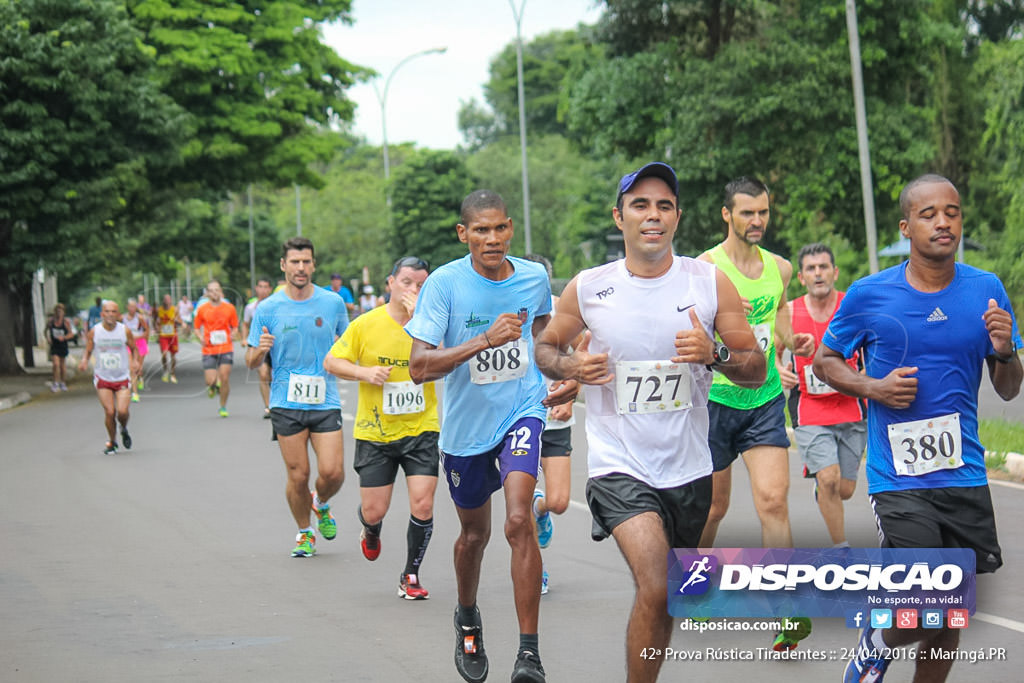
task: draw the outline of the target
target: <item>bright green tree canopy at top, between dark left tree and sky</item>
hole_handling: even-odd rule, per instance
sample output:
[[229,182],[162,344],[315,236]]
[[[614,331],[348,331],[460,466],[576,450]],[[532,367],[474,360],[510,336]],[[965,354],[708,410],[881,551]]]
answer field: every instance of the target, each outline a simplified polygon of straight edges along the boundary
[[249,182],[318,187],[311,166],[333,153],[317,129],[348,121],[344,91],[370,72],[321,42],[350,22],[351,0],[128,0],[156,49],[165,92],[193,117],[181,178],[238,190]]

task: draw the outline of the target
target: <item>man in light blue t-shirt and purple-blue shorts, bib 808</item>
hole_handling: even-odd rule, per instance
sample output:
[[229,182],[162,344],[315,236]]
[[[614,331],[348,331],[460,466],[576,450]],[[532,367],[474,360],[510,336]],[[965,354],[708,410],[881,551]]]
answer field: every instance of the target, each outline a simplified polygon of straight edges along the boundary
[[547,396],[534,336],[551,313],[551,287],[542,265],[508,255],[513,226],[502,198],[486,189],[470,194],[456,229],[469,254],[427,279],[406,326],[413,381],[444,378],[440,450],[462,524],[455,544],[456,669],[471,682],[487,676],[476,592],[490,536],[490,495],[504,488],[520,634],[512,681],[543,683],[541,551],[531,504],[545,405],[570,400],[578,387],[568,383]]

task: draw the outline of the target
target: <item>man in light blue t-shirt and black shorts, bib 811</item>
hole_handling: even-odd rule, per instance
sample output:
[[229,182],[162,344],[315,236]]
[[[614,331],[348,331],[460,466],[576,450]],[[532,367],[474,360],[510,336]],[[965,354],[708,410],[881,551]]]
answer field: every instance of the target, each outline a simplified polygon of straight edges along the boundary
[[[316,552],[309,511],[328,541],[338,526],[328,501],[345,478],[338,384],[324,359],[348,327],[345,302],[312,284],[313,244],[292,238],[282,246],[285,287],[260,302],[249,331],[246,365],[258,368],[269,353],[270,424],[288,469],[285,489],[299,532],[292,557]],[[309,490],[308,444],[316,454],[316,484]]]

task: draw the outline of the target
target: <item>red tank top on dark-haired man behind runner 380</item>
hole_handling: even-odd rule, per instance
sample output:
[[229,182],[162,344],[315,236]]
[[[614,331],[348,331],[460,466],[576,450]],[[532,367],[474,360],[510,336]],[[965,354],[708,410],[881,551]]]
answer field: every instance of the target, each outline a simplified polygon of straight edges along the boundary
[[[828,319],[818,323],[811,317],[811,312],[807,310],[804,297],[799,297],[793,302],[793,331],[804,332],[814,335],[814,349],[817,350],[821,344],[821,338],[828,329],[833,316],[839,310],[839,304],[843,301],[843,292],[837,292],[836,308],[833,309]],[[844,422],[859,422],[863,419],[860,411],[860,401],[853,396],[839,393],[827,384],[814,376],[811,371],[813,357],[793,356],[794,368],[797,377],[800,378],[800,403],[797,407],[797,420],[800,425],[838,425]],[[847,358],[847,364],[856,369],[857,355]]]

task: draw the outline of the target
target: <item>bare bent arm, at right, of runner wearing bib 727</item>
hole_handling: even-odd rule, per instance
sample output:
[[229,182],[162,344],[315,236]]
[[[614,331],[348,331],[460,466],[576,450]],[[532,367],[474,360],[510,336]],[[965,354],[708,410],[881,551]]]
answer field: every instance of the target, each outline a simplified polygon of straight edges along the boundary
[[716,369],[732,382],[755,389],[764,384],[766,377],[764,351],[746,322],[736,286],[721,270],[715,271],[715,285],[718,292],[715,332],[729,348],[729,361],[719,364]]

